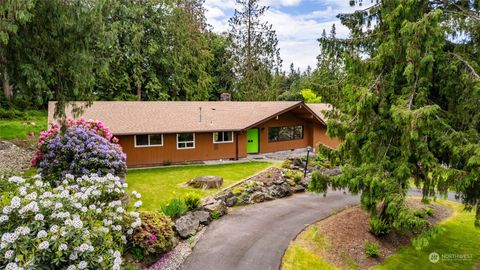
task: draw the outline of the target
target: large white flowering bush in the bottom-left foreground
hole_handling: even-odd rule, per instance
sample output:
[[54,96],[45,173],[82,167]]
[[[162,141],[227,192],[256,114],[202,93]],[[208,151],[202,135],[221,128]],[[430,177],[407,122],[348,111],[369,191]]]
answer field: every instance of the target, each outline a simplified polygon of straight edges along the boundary
[[111,174],[67,175],[56,188],[39,176],[0,180],[0,269],[120,269],[141,225],[126,187]]

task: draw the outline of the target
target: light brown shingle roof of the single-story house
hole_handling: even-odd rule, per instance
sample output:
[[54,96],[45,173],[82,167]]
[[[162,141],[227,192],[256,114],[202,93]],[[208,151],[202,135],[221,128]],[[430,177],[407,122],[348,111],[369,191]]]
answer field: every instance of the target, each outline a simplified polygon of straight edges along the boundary
[[[116,135],[236,131],[300,104],[297,101],[96,101],[82,116],[101,120]],[[54,105],[55,102],[50,102],[48,106],[49,122],[54,121]],[[70,111],[67,106],[67,117],[71,117]],[[320,116],[316,109],[315,113]]]

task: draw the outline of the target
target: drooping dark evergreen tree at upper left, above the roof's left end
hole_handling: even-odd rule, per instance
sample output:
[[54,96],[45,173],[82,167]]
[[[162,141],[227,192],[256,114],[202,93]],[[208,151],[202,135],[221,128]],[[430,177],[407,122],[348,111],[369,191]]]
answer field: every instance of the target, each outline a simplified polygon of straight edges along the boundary
[[19,105],[56,100],[62,116],[67,100],[92,100],[93,44],[103,38],[105,1],[36,1],[28,23],[8,43],[13,97]]

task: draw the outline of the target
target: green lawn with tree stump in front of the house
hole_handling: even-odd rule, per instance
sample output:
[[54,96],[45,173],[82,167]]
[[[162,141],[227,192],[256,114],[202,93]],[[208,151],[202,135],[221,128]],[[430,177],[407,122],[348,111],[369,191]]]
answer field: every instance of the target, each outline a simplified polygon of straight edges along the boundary
[[206,175],[222,176],[224,181],[222,188],[225,188],[270,166],[272,166],[272,163],[245,162],[139,169],[129,170],[126,180],[129,191],[135,190],[142,194],[142,208],[158,210],[163,203],[171,198],[182,197],[187,193],[196,193],[204,197],[218,192],[218,189],[204,191],[181,186],[182,183],[194,177]]

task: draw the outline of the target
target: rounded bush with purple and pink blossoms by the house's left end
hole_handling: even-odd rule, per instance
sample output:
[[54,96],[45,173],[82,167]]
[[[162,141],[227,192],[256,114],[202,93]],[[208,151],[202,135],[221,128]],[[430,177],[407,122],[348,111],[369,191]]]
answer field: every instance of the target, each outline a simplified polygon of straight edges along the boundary
[[40,135],[32,165],[45,180],[57,185],[67,174],[125,175],[126,156],[102,122],[68,119],[65,125],[61,131],[54,123]]

